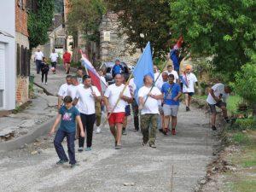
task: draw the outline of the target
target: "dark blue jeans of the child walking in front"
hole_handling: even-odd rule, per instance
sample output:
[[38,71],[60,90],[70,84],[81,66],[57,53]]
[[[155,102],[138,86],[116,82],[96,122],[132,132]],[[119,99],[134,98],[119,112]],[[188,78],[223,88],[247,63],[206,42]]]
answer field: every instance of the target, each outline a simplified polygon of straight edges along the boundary
[[62,146],[63,139],[67,137],[67,153],[69,157],[69,163],[75,164],[75,149],[74,149],[74,140],[75,140],[76,132],[67,132],[58,130],[55,135],[55,150],[60,158],[60,160],[68,160],[67,155],[64,151],[64,148]]

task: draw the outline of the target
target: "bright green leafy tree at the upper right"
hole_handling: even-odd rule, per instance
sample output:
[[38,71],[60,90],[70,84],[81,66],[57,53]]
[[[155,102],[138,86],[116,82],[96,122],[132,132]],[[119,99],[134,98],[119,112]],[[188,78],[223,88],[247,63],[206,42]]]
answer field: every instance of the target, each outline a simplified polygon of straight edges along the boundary
[[216,71],[230,80],[256,49],[255,0],[170,0],[169,25],[191,55],[212,55]]

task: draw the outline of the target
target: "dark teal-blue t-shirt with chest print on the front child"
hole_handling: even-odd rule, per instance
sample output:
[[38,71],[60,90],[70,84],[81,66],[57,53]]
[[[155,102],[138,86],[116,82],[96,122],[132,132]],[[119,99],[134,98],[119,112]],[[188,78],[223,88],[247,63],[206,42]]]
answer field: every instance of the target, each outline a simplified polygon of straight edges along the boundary
[[76,117],[80,115],[79,110],[75,107],[67,109],[62,106],[59,110],[61,114],[61,131],[75,132],[76,131]]

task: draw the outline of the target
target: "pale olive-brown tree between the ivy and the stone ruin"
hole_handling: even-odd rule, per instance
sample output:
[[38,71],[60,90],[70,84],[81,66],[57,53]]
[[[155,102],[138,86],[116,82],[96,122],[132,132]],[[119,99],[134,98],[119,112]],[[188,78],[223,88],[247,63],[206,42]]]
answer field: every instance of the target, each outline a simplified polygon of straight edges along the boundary
[[99,43],[99,25],[102,15],[106,12],[103,0],[70,0],[70,10],[67,15],[67,32],[74,37],[78,32],[89,41]]

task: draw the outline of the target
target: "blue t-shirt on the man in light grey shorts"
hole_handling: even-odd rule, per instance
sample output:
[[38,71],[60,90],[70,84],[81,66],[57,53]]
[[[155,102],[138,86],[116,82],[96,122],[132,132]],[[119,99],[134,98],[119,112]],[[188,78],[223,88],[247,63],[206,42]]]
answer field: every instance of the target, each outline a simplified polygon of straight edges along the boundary
[[164,103],[166,105],[179,105],[179,101],[177,100],[177,102],[175,102],[173,98],[176,97],[180,91],[179,84],[163,84],[161,92],[164,94]]

